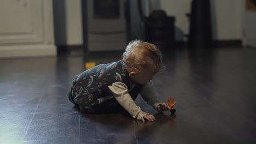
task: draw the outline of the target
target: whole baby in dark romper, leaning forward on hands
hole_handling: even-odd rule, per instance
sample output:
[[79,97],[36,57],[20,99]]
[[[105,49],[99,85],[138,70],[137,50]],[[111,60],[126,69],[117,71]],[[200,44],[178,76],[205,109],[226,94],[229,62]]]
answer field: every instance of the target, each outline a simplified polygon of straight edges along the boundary
[[131,41],[118,62],[100,64],[75,76],[69,100],[84,113],[104,113],[125,109],[133,118],[154,121],[134,102],[138,94],[158,111],[171,107],[159,103],[153,76],[164,68],[158,48],[141,40]]

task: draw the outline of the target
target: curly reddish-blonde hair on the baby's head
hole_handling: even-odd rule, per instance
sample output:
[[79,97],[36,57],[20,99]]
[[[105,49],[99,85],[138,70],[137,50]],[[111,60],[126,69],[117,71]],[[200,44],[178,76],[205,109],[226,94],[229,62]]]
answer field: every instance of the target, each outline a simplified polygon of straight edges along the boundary
[[123,53],[123,62],[127,70],[140,73],[154,62],[154,72],[164,69],[161,51],[154,44],[142,40],[132,40]]

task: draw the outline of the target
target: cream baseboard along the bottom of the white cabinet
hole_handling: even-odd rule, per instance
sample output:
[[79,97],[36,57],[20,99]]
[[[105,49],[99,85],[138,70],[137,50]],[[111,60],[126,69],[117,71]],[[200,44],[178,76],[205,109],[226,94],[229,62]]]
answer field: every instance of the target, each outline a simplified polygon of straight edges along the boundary
[[0,46],[0,58],[57,56],[55,45]]

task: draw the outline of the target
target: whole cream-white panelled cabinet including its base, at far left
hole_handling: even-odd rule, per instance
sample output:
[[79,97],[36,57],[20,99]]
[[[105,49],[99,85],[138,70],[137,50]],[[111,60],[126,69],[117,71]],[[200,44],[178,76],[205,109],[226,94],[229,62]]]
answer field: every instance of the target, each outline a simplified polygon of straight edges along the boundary
[[0,1],[0,58],[56,56],[52,0]]

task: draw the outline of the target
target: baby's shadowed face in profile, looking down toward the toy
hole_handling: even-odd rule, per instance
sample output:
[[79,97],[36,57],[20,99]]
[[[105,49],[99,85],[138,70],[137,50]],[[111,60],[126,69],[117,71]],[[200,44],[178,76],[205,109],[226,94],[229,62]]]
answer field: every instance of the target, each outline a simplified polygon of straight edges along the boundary
[[143,69],[141,73],[136,73],[132,79],[141,85],[146,85],[150,80],[153,79],[154,75],[156,74],[153,69],[154,66],[149,65],[146,67],[146,69]]

